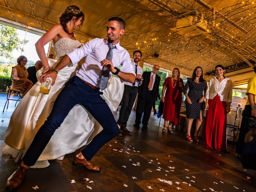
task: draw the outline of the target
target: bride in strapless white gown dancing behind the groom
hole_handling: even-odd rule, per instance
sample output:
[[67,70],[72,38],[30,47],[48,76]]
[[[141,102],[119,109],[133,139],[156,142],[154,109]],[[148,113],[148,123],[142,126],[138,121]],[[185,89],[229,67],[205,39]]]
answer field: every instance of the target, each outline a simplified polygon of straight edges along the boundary
[[[68,6],[59,20],[60,24],[54,25],[36,42],[36,51],[44,66],[41,70],[38,70],[38,77],[54,68],[58,60],[66,53],[81,46],[81,43],[76,40],[76,34],[72,32],[72,30],[79,30],[82,27],[84,14],[80,8],[74,5]],[[44,45],[50,40],[54,42],[54,52],[57,60],[47,59],[45,56]],[[50,114],[56,97],[77,69],[78,64],[73,66],[70,64],[60,70],[48,95],[39,93],[41,83],[37,82],[24,96],[10,118],[5,138],[7,145],[2,154],[10,154],[18,160],[21,154],[26,153],[36,132]],[[122,99],[122,91],[118,94],[115,93],[113,96],[111,91],[113,89],[123,89],[123,84],[121,84],[119,78],[110,78],[108,88],[103,91],[104,94],[102,95],[112,112],[118,108]],[[63,158],[65,154],[74,152],[90,141],[101,129],[101,126],[86,109],[79,104],[74,106],[60,128],[56,130],[58,134],[52,136],[34,168],[46,167],[49,165],[46,160],[56,159],[60,156]]]

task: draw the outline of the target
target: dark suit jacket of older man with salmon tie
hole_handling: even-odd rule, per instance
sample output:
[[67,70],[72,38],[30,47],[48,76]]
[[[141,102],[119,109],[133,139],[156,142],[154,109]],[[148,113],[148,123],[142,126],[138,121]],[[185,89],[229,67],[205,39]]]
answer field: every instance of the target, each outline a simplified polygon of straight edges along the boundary
[[[151,74],[151,71],[145,71],[142,74],[143,81],[142,81],[142,84],[139,86],[139,89],[138,89],[138,96],[142,99],[146,98],[146,95],[147,95],[147,92],[148,92],[148,84],[150,82],[150,77],[151,77],[150,74]],[[154,82],[153,90],[151,91],[152,96],[154,97],[154,100],[157,98],[157,96],[159,94],[160,79],[161,79],[160,76],[158,76],[156,74],[156,79],[155,79],[155,82]]]

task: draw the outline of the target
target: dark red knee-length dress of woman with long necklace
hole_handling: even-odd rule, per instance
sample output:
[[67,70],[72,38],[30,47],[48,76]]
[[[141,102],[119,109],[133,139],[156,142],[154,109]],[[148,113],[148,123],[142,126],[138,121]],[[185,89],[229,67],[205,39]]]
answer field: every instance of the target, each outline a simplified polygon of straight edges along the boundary
[[[182,82],[182,86],[184,87],[182,78],[180,78],[180,82]],[[180,121],[182,91],[179,82],[177,81],[175,84],[170,77],[166,78],[163,85],[166,85],[163,118],[166,121],[173,122],[173,125],[175,126]]]

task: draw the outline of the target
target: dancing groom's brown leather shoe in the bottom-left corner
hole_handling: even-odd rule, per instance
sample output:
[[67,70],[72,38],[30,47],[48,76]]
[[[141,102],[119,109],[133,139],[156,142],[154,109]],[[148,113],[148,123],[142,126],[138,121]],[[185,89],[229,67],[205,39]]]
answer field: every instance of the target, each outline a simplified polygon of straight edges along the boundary
[[19,166],[16,169],[16,171],[14,171],[13,174],[7,179],[5,183],[5,187],[9,191],[17,190],[22,184],[22,181],[24,180],[24,177],[26,176],[27,172],[28,172],[27,168]]

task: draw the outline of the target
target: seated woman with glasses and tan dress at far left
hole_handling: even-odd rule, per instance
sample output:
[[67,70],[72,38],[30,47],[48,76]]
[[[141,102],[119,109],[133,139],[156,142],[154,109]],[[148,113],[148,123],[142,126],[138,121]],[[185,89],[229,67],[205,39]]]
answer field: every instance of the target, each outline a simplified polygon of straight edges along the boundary
[[25,67],[28,60],[25,56],[21,55],[17,58],[17,65],[12,70],[12,89],[17,89],[24,92],[23,96],[34,85],[32,81],[28,79],[28,71]]

